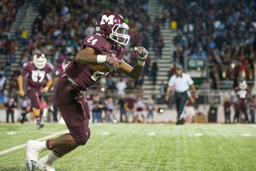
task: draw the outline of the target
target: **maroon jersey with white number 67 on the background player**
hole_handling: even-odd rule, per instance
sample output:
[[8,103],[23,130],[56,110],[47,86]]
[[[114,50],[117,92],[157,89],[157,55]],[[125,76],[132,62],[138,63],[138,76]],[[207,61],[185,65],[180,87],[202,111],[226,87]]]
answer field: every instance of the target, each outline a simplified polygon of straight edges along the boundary
[[46,66],[42,69],[38,69],[32,61],[28,61],[23,65],[23,71],[21,75],[27,77],[27,86],[34,88],[42,88],[45,78],[51,79],[50,72],[53,71],[53,65],[46,63]]

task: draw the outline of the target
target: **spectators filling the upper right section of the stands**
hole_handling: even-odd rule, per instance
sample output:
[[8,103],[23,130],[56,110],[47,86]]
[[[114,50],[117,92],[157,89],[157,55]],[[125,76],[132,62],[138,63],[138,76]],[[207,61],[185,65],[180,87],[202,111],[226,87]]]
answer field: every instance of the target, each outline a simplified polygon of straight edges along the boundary
[[[210,64],[212,89],[217,81],[252,81],[256,44],[254,0],[161,0],[178,35],[174,60],[205,58]],[[166,15],[162,15],[165,20]]]

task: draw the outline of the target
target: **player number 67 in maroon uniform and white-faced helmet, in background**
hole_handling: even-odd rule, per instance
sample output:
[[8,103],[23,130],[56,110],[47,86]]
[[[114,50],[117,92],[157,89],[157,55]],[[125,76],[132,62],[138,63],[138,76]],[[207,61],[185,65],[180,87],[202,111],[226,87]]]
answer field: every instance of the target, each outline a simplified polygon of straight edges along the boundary
[[[35,54],[33,62],[29,61],[24,63],[23,71],[18,76],[18,88],[21,96],[25,95],[23,90],[23,78],[27,78],[27,95],[31,99],[31,107],[34,116],[37,120],[37,128],[40,129],[44,125],[41,123],[40,118],[40,99],[42,91],[47,93],[52,85],[52,78],[50,72],[53,70],[53,65],[46,63],[44,54]],[[46,87],[43,88],[45,78],[47,78]],[[25,116],[24,116],[25,117]]]

